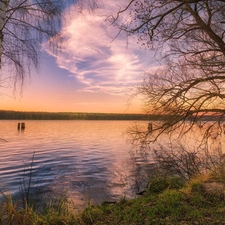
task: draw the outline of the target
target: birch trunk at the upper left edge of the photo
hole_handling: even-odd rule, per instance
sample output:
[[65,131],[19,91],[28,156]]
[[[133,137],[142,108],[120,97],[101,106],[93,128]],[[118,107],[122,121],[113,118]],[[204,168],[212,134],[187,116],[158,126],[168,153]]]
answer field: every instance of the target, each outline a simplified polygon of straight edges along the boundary
[[2,0],[0,2],[0,68],[2,66],[2,51],[3,51],[3,28],[5,25],[6,8],[9,0]]

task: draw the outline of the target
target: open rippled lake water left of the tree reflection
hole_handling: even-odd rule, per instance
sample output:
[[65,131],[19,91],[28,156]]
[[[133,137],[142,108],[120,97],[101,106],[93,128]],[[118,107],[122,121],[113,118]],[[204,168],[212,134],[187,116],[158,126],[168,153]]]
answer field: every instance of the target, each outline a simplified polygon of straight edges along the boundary
[[132,196],[131,121],[22,122],[24,131],[18,121],[0,121],[0,137],[7,140],[0,142],[0,183],[12,194],[32,167],[34,186],[66,192],[78,205]]

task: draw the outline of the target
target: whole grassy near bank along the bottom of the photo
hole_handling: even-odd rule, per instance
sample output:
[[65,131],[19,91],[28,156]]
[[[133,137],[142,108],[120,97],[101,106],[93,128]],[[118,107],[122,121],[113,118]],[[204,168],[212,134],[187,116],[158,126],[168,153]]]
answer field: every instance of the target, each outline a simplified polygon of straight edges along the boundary
[[140,197],[103,203],[76,213],[65,200],[41,210],[20,209],[8,196],[1,205],[1,224],[225,224],[224,180],[199,176],[183,184],[178,178],[158,177]]

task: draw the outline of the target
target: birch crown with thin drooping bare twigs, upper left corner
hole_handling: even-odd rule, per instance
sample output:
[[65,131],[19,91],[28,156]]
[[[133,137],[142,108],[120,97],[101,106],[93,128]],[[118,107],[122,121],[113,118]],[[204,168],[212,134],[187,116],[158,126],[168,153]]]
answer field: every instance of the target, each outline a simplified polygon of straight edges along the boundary
[[[38,69],[41,44],[59,44],[63,12],[79,0],[1,0],[0,75],[10,71],[20,86],[32,68]],[[88,0],[90,7],[95,1]],[[76,13],[76,12],[75,12]]]

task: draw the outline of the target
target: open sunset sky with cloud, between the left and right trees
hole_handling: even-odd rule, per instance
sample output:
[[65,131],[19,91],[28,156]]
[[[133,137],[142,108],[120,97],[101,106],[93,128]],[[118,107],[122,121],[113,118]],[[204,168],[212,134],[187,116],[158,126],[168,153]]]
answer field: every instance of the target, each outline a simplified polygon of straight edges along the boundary
[[11,83],[1,88],[1,109],[142,113],[141,101],[130,97],[152,66],[152,54],[135,38],[118,35],[106,20],[125,2],[107,0],[92,12],[71,6],[64,14],[60,53],[43,44],[40,70],[32,72],[22,92]]

